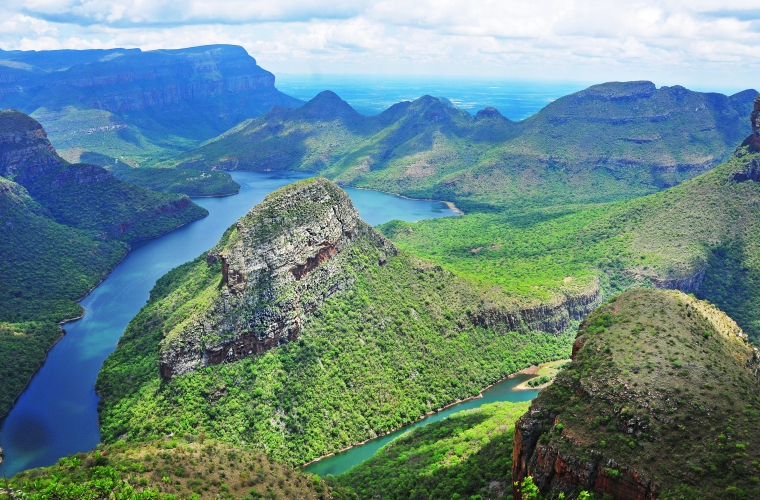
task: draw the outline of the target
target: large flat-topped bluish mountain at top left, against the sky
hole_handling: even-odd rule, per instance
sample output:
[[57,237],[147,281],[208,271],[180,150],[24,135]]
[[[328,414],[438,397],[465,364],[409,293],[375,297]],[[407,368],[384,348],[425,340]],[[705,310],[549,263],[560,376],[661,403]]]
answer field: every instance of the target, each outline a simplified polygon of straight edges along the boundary
[[242,47],[0,52],[0,107],[32,115],[61,155],[143,164],[301,101]]

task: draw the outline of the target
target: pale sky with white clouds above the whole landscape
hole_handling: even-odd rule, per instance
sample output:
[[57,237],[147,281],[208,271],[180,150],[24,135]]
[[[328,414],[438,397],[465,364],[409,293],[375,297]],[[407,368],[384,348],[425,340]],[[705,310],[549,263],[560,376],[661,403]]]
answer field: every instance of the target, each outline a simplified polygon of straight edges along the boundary
[[760,0],[3,0],[4,50],[242,45],[275,74],[760,87]]

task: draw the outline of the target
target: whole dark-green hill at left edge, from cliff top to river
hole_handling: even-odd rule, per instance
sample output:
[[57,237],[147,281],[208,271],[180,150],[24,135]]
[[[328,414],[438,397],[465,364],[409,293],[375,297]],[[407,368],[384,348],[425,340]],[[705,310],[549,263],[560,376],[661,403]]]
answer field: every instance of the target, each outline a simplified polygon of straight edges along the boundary
[[34,119],[0,111],[0,415],[60,337],[56,323],[82,314],[76,301],[128,243],[206,213],[186,196],[67,164]]

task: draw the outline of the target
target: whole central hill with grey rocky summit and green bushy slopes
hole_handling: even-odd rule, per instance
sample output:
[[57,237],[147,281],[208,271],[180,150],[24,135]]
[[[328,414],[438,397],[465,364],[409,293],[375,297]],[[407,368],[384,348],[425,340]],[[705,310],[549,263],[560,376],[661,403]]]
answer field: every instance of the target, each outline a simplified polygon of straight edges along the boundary
[[303,463],[561,357],[597,301],[521,310],[301,181],[157,283],[98,377],[102,436],[205,432]]

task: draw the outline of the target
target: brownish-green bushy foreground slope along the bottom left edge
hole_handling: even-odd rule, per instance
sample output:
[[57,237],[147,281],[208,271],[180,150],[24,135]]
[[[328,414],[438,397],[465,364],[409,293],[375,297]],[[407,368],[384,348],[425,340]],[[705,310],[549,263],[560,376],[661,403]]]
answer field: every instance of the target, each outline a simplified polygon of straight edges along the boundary
[[51,467],[21,472],[0,483],[0,499],[15,498],[316,500],[354,496],[339,486],[328,486],[318,476],[272,462],[262,453],[188,435],[142,444],[119,441],[64,457]]

